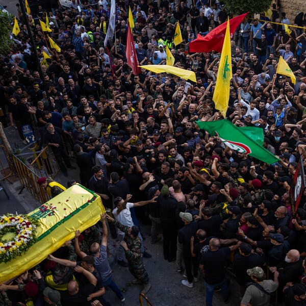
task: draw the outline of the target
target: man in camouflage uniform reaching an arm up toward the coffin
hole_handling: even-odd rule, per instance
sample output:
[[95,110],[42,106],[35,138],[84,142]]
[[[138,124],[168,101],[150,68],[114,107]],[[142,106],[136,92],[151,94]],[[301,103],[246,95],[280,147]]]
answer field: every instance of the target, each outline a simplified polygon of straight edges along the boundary
[[124,235],[124,241],[121,241],[121,245],[125,251],[125,257],[129,264],[129,270],[135,279],[132,281],[133,284],[143,284],[143,290],[141,293],[146,294],[151,285],[149,284],[149,276],[144,268],[142,261],[142,254],[140,251],[141,241],[138,237],[139,228],[135,225],[132,227],[122,225],[120,222],[107,215],[108,220],[114,222],[114,225],[119,228]]

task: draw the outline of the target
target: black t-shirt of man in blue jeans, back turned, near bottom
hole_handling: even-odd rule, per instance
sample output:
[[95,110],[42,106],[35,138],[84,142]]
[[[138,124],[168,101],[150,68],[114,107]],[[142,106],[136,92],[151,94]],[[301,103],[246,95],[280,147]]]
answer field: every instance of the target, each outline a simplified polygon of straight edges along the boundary
[[205,282],[209,285],[221,283],[225,277],[225,262],[231,253],[229,247],[220,248],[217,251],[209,250],[200,259],[200,264],[204,266]]

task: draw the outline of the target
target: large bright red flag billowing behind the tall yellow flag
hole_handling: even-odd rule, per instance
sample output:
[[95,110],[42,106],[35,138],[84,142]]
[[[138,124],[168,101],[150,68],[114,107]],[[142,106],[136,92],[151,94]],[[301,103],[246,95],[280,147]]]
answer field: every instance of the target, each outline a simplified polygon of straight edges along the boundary
[[[236,28],[247,14],[248,12],[230,19],[231,38],[233,38]],[[227,21],[223,22],[204,37],[198,34],[197,38],[190,42],[189,52],[211,52],[212,50],[215,50],[221,53],[225,37],[226,23]]]

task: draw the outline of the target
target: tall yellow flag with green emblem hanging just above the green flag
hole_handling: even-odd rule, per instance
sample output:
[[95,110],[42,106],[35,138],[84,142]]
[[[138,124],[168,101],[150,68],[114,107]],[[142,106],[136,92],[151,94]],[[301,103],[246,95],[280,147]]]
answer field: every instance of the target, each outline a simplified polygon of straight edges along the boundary
[[227,18],[226,32],[220,57],[216,87],[213,95],[216,110],[226,117],[228,99],[230,99],[230,82],[232,79],[232,52],[230,21]]

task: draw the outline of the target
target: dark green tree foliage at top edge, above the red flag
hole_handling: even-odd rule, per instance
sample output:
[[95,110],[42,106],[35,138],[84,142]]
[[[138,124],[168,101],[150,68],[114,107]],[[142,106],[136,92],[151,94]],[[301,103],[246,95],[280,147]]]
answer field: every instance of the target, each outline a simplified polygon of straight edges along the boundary
[[252,17],[254,13],[266,12],[272,3],[272,0],[223,0],[227,10],[233,14],[243,14],[249,12],[249,17]]

